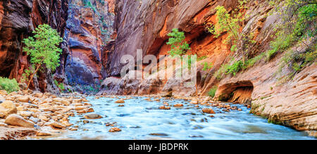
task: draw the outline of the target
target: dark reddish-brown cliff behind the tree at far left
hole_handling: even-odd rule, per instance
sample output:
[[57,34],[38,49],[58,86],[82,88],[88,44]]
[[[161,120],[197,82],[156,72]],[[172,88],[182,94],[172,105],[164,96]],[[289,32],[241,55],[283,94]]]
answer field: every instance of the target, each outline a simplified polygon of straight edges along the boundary
[[[18,81],[30,67],[21,41],[32,35],[40,24],[49,24],[63,36],[66,26],[68,2],[66,0],[8,0],[0,1],[0,75]],[[47,74],[46,74],[47,73]],[[50,71],[39,73],[32,83],[33,89],[53,90]]]

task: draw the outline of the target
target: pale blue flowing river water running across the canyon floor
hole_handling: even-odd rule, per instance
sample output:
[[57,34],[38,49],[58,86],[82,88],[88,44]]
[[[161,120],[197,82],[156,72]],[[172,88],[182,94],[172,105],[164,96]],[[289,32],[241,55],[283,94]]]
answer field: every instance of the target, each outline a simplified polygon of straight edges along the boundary
[[[66,131],[48,139],[313,139],[304,132],[270,124],[266,119],[251,115],[244,105],[236,105],[242,111],[230,113],[220,113],[220,109],[213,108],[216,114],[209,117],[201,112],[203,106],[195,108],[189,101],[163,98],[159,102],[145,101],[145,98],[132,97],[125,100],[124,107],[119,107],[114,103],[117,98],[88,97],[95,113],[104,118],[84,124],[83,115],[75,115],[70,117],[70,123],[79,126],[78,131]],[[184,107],[159,110],[163,102],[182,103]],[[113,122],[122,131],[108,132],[111,127],[106,124]]]

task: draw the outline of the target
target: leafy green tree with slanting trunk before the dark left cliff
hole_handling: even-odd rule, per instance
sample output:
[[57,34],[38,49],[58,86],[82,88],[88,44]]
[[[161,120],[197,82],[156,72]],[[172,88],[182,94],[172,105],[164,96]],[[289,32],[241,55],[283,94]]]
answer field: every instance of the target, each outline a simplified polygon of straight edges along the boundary
[[25,44],[23,51],[27,52],[27,55],[30,56],[30,63],[32,63],[33,68],[35,68],[35,70],[30,73],[31,77],[28,81],[27,89],[29,89],[33,77],[40,68],[45,66],[50,70],[56,70],[62,51],[58,48],[58,45],[61,44],[63,38],[49,25],[39,25],[33,33],[35,34],[34,37],[23,39],[23,43]]

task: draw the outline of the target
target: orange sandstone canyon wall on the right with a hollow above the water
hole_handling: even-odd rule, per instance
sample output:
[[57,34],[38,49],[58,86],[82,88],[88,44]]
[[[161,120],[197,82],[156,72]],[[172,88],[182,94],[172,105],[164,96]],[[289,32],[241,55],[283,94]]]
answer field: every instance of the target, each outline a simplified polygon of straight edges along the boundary
[[[102,54],[106,66],[104,80],[99,94],[172,94],[174,96],[206,96],[211,88],[218,87],[215,100],[245,103],[252,106],[251,112],[268,118],[271,122],[284,124],[298,130],[317,129],[316,120],[316,64],[307,66],[284,84],[279,79],[289,74],[284,69],[277,75],[280,53],[273,60],[259,60],[254,67],[239,72],[237,75],[225,75],[216,79],[215,72],[221,65],[230,62],[230,58],[240,60],[239,52],[230,52],[230,46],[223,43],[227,36],[216,38],[206,30],[206,23],[216,23],[216,6],[225,6],[230,12],[237,8],[238,1],[225,0],[178,0],[178,1],[116,1],[115,30],[116,41],[111,42]],[[270,14],[273,6],[268,1],[249,1],[247,8],[240,10],[246,17],[242,34],[253,33],[256,41],[250,46],[248,58],[253,58],[270,49],[271,35],[280,18]],[[198,72],[187,79],[172,79],[175,71],[170,70],[165,79],[157,79],[155,72],[142,79],[120,77],[124,64],[120,58],[131,55],[136,58],[137,49],[142,49],[142,56],[167,54],[170,46],[167,34],[173,28],[185,32],[186,41],[191,50],[187,54],[197,54],[206,58],[197,62]],[[244,42],[246,44],[247,42]],[[105,60],[106,59],[106,60]],[[202,63],[212,63],[206,71]],[[141,67],[147,67],[143,64]],[[135,68],[140,66],[135,65]],[[168,66],[173,68],[173,66]],[[142,75],[142,74],[141,74]],[[191,77],[197,77],[197,87],[185,87]]]

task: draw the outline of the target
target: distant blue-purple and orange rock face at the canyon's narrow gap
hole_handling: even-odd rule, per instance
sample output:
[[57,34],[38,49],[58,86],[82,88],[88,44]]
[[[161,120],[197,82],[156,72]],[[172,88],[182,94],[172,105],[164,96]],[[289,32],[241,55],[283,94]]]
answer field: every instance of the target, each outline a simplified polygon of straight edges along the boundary
[[114,14],[107,1],[69,0],[65,49],[59,82],[70,85],[100,84],[101,49],[113,33]]

